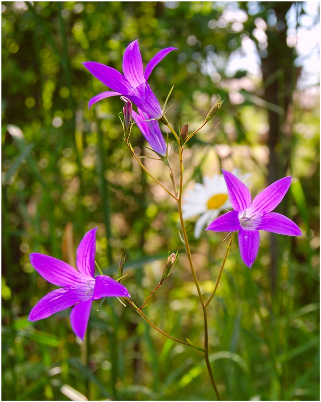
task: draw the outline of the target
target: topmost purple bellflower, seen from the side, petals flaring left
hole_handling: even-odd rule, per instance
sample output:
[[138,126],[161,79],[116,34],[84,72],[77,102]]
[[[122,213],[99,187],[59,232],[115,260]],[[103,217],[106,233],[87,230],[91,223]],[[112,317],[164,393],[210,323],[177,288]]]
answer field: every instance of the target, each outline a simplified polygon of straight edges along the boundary
[[95,61],[86,61],[84,66],[111,91],[99,93],[89,101],[89,108],[101,99],[109,96],[123,95],[131,100],[150,118],[160,119],[163,115],[161,105],[150,89],[147,79],[153,68],[175,47],[168,47],[155,54],[146,65],[145,71],[138,46],[138,39],[131,42],[123,56],[124,75],[112,67]]

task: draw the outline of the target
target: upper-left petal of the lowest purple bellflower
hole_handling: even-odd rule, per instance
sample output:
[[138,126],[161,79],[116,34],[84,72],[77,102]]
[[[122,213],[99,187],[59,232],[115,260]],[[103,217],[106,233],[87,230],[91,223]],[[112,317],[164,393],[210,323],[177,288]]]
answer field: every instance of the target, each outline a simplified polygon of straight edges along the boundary
[[35,270],[48,282],[57,286],[83,286],[86,277],[65,262],[49,255],[32,253],[30,262]]

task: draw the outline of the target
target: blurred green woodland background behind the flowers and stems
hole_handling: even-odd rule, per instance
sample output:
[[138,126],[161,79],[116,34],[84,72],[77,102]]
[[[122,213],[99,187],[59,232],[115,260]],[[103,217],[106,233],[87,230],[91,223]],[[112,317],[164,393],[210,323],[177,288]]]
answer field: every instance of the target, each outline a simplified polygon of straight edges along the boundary
[[[223,167],[251,173],[251,191],[292,174],[277,212],[302,237],[262,232],[252,270],[232,245],[208,310],[210,359],[229,400],[319,400],[319,3],[2,2],[2,399],[213,399],[203,357],[145,325],[117,300],[93,308],[88,339],[75,339],[68,311],[30,323],[54,287],[28,255],[74,265],[91,228],[96,259],[141,305],[180,250],[171,276],[144,309],[179,339],[203,342],[203,319],[172,199],[132,159],[118,118],[123,103],[88,101],[106,90],[81,64],[122,70],[139,40],[144,65],[175,46],[149,84],[178,129],[202,124],[216,95],[224,103],[189,142],[185,190]],[[162,129],[165,129],[163,126]],[[165,132],[165,131],[164,131]],[[172,141],[172,138],[170,137]],[[137,154],[151,155],[136,127]],[[171,157],[178,174],[177,149]],[[143,159],[170,188],[162,162]],[[224,234],[193,236],[193,259],[210,295]],[[98,309],[99,302],[93,305]]]

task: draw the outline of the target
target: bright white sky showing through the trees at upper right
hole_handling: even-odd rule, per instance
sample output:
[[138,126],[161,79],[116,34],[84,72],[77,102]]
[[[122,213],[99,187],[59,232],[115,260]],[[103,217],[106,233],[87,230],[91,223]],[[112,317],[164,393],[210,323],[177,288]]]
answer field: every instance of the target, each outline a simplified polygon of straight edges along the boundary
[[[248,2],[248,14],[256,15],[264,10],[264,6],[258,2]],[[211,20],[209,28],[215,29],[217,26],[224,28],[228,23],[239,23],[242,29],[235,29],[235,32],[243,30],[243,24],[248,19],[247,13],[240,10],[236,2],[216,2],[213,7],[221,7],[222,15],[216,20]],[[304,15],[301,15],[297,21],[297,15],[301,8]],[[261,75],[261,58],[267,57],[267,36],[266,29],[275,27],[284,29],[277,22],[274,10],[267,12],[267,25],[261,22],[261,18],[256,20],[256,28],[253,32],[259,41],[259,51],[256,44],[247,35],[243,35],[241,46],[236,48],[235,42],[230,43],[230,48],[235,50],[230,54],[228,60],[215,53],[215,48],[207,46],[207,57],[203,61],[201,71],[203,74],[212,75],[225,69],[227,76],[233,76],[238,70],[246,70],[250,74]],[[319,82],[319,2],[295,3],[290,8],[286,16],[287,20],[287,44],[295,47],[297,58],[295,65],[302,67],[301,76],[298,80],[299,89],[304,89],[310,85],[316,85]],[[279,25],[279,26],[278,26]],[[242,35],[242,34],[241,34]],[[237,45],[237,43],[236,43]]]

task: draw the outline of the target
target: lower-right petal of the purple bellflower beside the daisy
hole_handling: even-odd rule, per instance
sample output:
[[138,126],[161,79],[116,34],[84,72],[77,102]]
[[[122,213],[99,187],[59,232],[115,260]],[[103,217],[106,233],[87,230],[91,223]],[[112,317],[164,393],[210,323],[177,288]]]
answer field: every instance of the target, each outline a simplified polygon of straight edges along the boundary
[[264,214],[256,228],[258,230],[266,230],[267,232],[278,233],[280,235],[302,235],[300,228],[291,221],[291,219],[284,215],[277,214],[276,212]]

